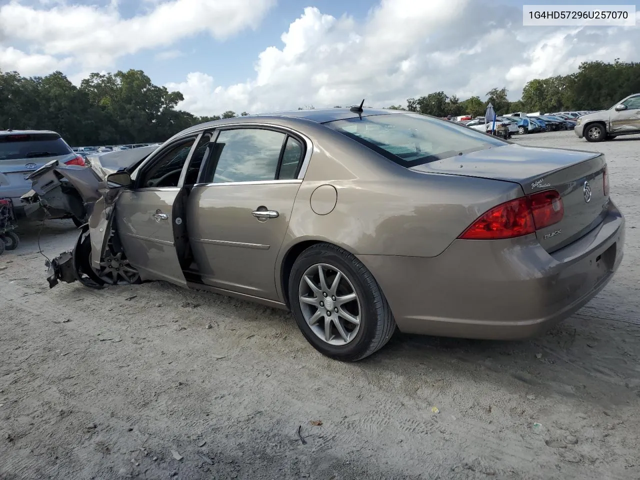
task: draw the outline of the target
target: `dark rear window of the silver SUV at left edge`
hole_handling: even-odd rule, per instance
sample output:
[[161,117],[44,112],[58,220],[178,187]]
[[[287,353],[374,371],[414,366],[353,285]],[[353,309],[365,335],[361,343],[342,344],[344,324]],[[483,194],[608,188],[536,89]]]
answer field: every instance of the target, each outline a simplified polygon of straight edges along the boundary
[[0,136],[0,160],[58,157],[72,153],[56,134],[15,134]]

